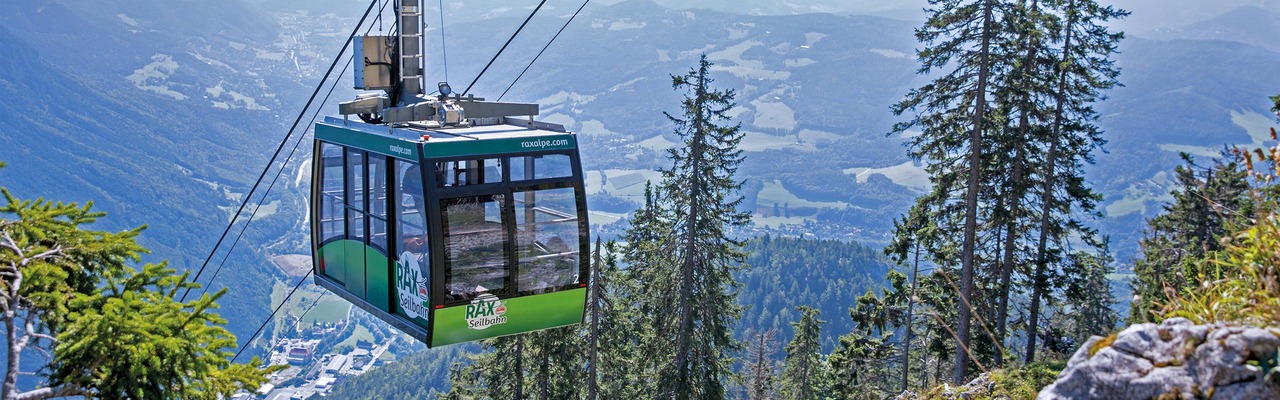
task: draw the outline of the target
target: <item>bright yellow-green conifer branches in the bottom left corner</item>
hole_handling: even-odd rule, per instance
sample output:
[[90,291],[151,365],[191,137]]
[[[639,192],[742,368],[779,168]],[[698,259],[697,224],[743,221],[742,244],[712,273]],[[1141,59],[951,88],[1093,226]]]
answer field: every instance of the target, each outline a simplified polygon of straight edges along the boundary
[[[232,364],[236,338],[214,313],[225,290],[180,303],[197,285],[165,264],[129,267],[145,227],[88,229],[92,204],[19,200],[0,188],[0,310],[8,368],[4,399],[219,399],[257,388],[278,368]],[[49,363],[22,368],[23,354]],[[47,350],[51,350],[47,351]],[[37,373],[42,387],[22,390]]]

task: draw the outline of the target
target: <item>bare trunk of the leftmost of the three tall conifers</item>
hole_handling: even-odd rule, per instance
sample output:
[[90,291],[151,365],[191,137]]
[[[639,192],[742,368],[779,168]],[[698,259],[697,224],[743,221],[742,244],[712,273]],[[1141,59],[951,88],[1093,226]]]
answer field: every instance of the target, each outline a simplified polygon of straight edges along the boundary
[[965,196],[964,250],[960,268],[960,312],[956,329],[956,363],[952,382],[963,385],[969,374],[969,331],[973,319],[973,264],[974,241],[978,233],[978,185],[982,176],[982,129],[987,113],[987,79],[991,74],[991,35],[992,8],[995,0],[984,0],[982,5],[982,49],[979,50],[978,87],[974,96],[973,131],[969,133],[969,187]]

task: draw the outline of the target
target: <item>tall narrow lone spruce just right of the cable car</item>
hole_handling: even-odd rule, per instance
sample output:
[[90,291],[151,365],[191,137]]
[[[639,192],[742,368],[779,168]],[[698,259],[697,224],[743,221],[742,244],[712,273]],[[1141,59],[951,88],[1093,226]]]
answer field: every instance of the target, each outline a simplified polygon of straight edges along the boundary
[[723,397],[730,354],[737,349],[730,332],[741,314],[733,272],[745,254],[742,242],[726,231],[749,218],[737,210],[741,197],[735,199],[742,185],[733,177],[742,163],[742,133],[736,124],[721,124],[730,119],[735,92],[712,88],[710,67],[704,55],[689,73],[672,76],[672,86],[686,96],[680,117],[667,114],[685,142],[669,150],[673,165],[662,172],[671,263],[652,265],[658,269],[650,273],[659,277],[643,285],[675,285],[645,290],[662,295],[640,299],[655,312],[655,337],[673,340],[658,377],[659,396],[667,399]]

